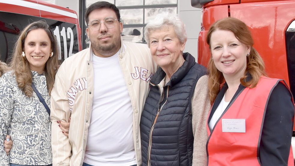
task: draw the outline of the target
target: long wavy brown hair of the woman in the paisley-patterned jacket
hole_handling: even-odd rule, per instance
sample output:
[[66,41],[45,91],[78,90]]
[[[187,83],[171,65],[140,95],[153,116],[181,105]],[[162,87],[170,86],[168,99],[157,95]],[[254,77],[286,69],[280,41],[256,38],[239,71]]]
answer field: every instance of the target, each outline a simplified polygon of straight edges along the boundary
[[50,31],[48,24],[44,21],[37,21],[29,24],[25,27],[25,29],[20,33],[19,38],[14,46],[14,52],[12,56],[12,60],[10,63],[11,70],[14,71],[18,87],[28,96],[32,97],[33,89],[32,89],[32,72],[29,68],[29,62],[25,57],[22,56],[24,51],[24,43],[28,33],[35,29],[43,29],[51,42],[51,50],[53,52],[53,56],[49,57],[45,64],[44,76],[46,77],[47,90],[50,95],[50,92],[53,88],[53,83],[55,80],[55,75],[57,69],[59,67],[59,46],[56,40],[56,37]]

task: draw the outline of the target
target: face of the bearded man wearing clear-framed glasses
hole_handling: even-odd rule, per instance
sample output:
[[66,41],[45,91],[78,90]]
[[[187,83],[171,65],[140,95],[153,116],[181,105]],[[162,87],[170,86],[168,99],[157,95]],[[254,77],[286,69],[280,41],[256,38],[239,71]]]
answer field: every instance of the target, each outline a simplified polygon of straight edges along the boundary
[[[104,21],[107,17],[118,19],[115,11],[109,8],[99,8],[92,11],[88,18],[89,23],[92,20]],[[121,32],[123,31],[122,23],[116,20],[113,28],[107,28],[101,23],[99,30],[92,30],[89,26],[86,33],[90,39],[93,52],[99,57],[110,57],[117,53],[121,47]]]

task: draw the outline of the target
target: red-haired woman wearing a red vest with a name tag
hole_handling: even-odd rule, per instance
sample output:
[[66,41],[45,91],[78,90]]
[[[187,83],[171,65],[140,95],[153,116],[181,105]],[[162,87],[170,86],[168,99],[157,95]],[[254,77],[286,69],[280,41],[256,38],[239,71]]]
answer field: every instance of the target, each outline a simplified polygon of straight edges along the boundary
[[266,77],[242,21],[224,18],[208,31],[208,165],[294,165],[293,97],[283,80]]

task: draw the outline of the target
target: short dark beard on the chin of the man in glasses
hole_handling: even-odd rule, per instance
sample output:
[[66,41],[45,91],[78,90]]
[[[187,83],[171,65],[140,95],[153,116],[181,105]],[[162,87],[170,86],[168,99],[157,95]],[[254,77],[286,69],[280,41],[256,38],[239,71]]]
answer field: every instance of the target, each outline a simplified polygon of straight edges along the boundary
[[90,39],[92,49],[97,51],[99,54],[104,55],[104,56],[112,56],[116,53],[118,47],[120,48],[121,41],[120,39],[117,41],[113,41],[112,43],[109,44],[99,44],[97,41],[93,41]]

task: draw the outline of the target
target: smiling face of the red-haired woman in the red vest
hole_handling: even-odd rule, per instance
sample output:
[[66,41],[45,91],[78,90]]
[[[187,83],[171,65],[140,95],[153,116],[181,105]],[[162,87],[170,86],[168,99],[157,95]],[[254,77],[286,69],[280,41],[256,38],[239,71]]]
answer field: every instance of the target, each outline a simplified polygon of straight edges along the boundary
[[210,38],[212,58],[216,68],[223,73],[224,78],[241,78],[246,70],[246,55],[250,46],[241,43],[233,32],[219,30],[212,32]]

